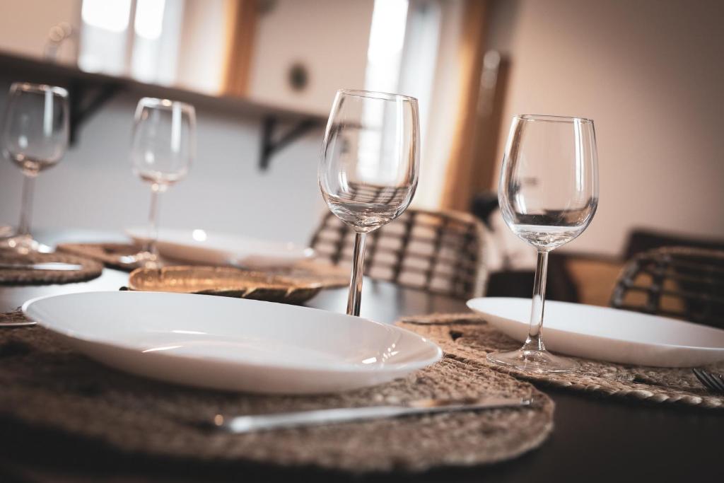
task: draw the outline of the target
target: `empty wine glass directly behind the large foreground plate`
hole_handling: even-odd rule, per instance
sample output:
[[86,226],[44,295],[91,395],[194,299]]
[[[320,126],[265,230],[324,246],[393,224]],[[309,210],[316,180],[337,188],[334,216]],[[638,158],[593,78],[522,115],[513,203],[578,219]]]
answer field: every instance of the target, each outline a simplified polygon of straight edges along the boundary
[[329,209],[355,230],[347,313],[359,315],[365,238],[407,209],[417,188],[420,144],[417,99],[337,91],[319,161],[319,188]]

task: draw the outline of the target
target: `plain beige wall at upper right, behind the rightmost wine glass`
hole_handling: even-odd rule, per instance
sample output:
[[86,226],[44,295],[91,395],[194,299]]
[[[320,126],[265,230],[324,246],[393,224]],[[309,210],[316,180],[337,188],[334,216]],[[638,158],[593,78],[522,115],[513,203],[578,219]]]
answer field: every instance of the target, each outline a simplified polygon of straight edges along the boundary
[[599,211],[571,250],[619,253],[633,227],[724,238],[722,19],[720,0],[495,2],[489,47],[512,63],[505,124],[596,123]]

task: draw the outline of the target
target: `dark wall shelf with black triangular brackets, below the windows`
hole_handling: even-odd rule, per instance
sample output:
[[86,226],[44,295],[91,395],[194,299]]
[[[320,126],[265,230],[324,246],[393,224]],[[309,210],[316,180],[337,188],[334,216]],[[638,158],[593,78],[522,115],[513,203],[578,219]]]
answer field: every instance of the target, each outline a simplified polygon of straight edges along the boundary
[[[317,113],[286,109],[234,96],[212,96],[183,88],[141,83],[130,77],[85,72],[67,64],[0,52],[0,78],[9,81],[46,83],[67,88],[70,98],[70,143],[80,139],[80,130],[106,102],[119,93],[138,97],[171,98],[193,104],[199,112],[213,111],[260,119],[261,146],[258,166],[269,169],[271,158],[313,129],[324,127],[327,117]],[[287,127],[280,133],[281,126]]]

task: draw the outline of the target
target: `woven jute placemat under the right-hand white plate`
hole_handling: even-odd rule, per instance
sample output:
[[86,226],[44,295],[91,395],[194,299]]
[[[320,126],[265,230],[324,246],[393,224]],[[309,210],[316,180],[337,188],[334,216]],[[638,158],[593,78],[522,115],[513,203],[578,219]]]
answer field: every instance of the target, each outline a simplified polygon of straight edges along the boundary
[[[688,368],[627,366],[575,358],[581,363],[576,371],[529,374],[487,361],[487,353],[517,349],[521,343],[495,329],[476,314],[415,316],[403,319],[398,325],[434,340],[445,353],[461,361],[474,362],[521,379],[606,397],[724,409],[724,395],[715,395],[704,388]],[[724,363],[712,366],[711,369],[724,372]]]

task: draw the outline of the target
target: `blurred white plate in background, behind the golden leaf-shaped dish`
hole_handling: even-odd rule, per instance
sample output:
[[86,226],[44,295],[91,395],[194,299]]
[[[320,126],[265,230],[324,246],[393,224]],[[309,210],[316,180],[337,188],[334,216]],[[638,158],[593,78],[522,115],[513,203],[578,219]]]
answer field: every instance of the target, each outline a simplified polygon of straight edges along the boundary
[[[129,228],[126,234],[136,243],[148,238],[148,230]],[[206,230],[160,230],[159,253],[172,259],[211,265],[233,265],[251,269],[289,266],[314,256],[311,248],[293,243],[257,240]]]

